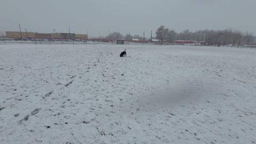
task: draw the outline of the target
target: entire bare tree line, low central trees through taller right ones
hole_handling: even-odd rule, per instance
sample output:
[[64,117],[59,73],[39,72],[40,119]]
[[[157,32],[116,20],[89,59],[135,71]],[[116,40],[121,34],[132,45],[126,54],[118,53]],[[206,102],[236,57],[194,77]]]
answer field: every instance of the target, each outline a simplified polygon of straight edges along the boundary
[[[205,42],[205,43],[256,43],[256,36],[246,31],[242,33],[239,30],[225,29],[225,30],[197,30],[190,31],[189,29],[183,30],[178,33],[175,30],[165,28],[165,26],[160,26],[157,28],[156,37],[152,37],[153,39],[158,39],[159,41],[197,41],[197,42]],[[99,37],[94,37],[99,38]],[[124,40],[132,40],[139,39],[150,40],[150,38],[144,38],[140,35],[122,35],[121,33],[114,31],[110,33],[106,37],[101,37],[105,39],[124,39]]]

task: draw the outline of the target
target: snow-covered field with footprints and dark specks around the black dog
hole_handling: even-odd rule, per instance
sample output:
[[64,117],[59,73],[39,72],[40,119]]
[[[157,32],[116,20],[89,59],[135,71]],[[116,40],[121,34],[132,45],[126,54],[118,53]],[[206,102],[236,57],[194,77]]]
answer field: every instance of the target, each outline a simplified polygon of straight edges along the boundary
[[0,45],[0,143],[256,143],[256,50]]

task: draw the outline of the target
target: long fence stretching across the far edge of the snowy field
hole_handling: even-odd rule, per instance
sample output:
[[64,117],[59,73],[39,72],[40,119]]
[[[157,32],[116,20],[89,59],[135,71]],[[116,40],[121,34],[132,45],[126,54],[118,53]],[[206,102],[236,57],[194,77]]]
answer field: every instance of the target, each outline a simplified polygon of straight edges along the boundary
[[194,41],[174,41],[174,42],[152,42],[152,41],[131,41],[119,39],[89,39],[89,38],[55,38],[55,37],[5,37],[0,36],[0,44],[117,44],[117,41],[124,41],[125,45],[191,45],[191,46],[218,46],[218,47],[250,47],[256,48],[256,44],[245,43],[196,43]]

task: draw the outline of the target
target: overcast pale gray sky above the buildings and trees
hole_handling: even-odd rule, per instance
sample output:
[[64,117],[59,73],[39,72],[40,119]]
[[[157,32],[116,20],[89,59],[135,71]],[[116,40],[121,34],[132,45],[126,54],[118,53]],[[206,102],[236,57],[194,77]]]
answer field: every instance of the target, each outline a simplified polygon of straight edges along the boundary
[[189,29],[247,30],[256,34],[256,0],[1,0],[0,31],[150,36],[164,25]]

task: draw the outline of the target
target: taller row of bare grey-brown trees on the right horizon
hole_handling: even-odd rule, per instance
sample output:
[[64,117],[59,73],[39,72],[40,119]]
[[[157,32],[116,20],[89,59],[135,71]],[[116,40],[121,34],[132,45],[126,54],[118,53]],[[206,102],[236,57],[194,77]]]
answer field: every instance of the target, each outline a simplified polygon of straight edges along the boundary
[[175,30],[160,26],[156,30],[156,38],[161,41],[197,41],[197,42],[212,42],[212,43],[254,43],[256,42],[256,36],[248,31],[242,33],[238,30],[197,30],[191,32],[188,29],[183,30],[181,33],[177,33]]

